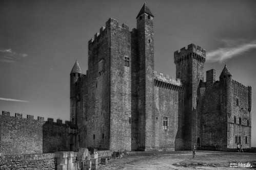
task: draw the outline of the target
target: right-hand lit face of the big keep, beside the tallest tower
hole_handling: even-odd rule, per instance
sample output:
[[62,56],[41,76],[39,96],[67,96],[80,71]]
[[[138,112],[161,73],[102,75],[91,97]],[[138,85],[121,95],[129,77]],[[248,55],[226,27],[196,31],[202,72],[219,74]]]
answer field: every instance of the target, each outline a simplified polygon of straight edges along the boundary
[[120,27],[118,21],[111,19],[110,43],[110,150],[130,151],[132,63],[128,26]]

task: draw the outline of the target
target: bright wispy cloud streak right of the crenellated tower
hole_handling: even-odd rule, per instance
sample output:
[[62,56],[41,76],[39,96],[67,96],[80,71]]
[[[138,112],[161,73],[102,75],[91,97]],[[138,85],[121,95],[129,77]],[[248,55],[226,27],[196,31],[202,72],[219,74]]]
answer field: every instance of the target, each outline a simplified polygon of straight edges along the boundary
[[244,40],[223,39],[221,41],[224,43],[224,47],[206,53],[207,61],[224,62],[244,52],[250,51],[252,48],[256,48],[256,40],[245,42]]

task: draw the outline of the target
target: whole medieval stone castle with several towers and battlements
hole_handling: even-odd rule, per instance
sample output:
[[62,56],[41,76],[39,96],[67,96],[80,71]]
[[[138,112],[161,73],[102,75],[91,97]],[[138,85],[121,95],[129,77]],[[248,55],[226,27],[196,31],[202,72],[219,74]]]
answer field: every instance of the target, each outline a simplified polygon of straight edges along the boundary
[[129,31],[110,18],[88,42],[88,70],[70,73],[74,146],[102,150],[251,147],[251,87],[206,71],[195,44],[174,52],[176,78],[154,71],[153,14],[146,4]]

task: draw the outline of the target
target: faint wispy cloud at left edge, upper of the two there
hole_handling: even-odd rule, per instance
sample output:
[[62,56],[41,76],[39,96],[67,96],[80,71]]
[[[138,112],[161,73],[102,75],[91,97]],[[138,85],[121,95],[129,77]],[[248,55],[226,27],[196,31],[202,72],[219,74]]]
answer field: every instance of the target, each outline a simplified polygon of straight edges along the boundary
[[17,53],[9,49],[0,48],[0,62],[16,63],[18,60],[25,59],[27,54]]

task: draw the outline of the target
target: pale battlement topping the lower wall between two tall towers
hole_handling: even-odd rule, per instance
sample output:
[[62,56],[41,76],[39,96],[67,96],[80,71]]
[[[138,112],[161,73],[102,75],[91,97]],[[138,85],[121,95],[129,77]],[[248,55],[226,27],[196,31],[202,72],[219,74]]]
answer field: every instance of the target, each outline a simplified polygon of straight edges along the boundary
[[169,75],[166,75],[164,77],[164,74],[160,72],[159,75],[157,75],[157,72],[154,71],[154,84],[157,87],[167,88],[171,90],[182,90],[182,82],[180,79],[176,79],[175,77],[170,77]]

